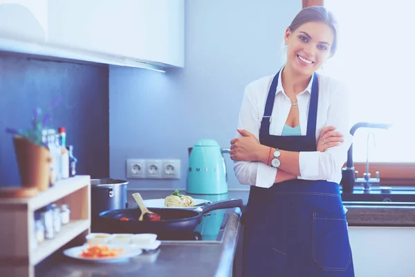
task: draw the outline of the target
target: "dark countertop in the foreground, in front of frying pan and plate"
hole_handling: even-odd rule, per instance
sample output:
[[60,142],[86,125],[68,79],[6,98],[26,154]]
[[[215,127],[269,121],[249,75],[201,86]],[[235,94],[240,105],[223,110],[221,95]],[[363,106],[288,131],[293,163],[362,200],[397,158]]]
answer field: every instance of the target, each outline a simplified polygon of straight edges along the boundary
[[[143,197],[145,198],[145,197]],[[36,268],[36,276],[232,276],[241,210],[226,210],[220,240],[162,241],[153,252],[143,253],[126,263],[91,264],[57,254]]]

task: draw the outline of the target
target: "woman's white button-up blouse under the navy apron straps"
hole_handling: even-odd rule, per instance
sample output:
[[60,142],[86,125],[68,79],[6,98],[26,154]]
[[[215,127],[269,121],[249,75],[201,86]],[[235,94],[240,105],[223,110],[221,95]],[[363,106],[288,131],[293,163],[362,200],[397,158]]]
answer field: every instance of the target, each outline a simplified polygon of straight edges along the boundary
[[[271,115],[270,134],[279,136],[286,123],[291,109],[291,100],[286,96],[282,87],[281,75],[275,91],[273,114]],[[246,129],[259,139],[259,127],[264,116],[266,98],[270,83],[275,75],[269,75],[250,82],[245,88],[241,110],[239,112],[239,129]],[[353,137],[350,134],[349,110],[350,100],[347,88],[338,80],[317,74],[319,96],[317,108],[316,141],[320,132],[326,126],[334,126],[336,131],[343,134],[344,142],[329,148],[326,152],[299,152],[298,179],[327,180],[340,183],[342,166],[347,160]],[[308,105],[310,103],[311,85],[313,78],[305,91],[297,95],[297,109],[299,109],[299,125],[302,136],[307,132]],[[241,136],[237,133],[237,136]],[[268,166],[259,161],[234,161],[234,172],[240,184],[269,188],[273,186],[278,174],[277,168]]]

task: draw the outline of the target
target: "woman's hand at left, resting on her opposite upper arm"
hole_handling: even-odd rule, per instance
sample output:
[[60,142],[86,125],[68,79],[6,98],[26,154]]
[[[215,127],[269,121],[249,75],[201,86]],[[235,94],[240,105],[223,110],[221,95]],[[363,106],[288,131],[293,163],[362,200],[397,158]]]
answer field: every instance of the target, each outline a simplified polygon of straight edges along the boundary
[[230,141],[230,159],[234,161],[257,161],[261,151],[261,143],[245,129],[238,129],[238,132],[242,136]]

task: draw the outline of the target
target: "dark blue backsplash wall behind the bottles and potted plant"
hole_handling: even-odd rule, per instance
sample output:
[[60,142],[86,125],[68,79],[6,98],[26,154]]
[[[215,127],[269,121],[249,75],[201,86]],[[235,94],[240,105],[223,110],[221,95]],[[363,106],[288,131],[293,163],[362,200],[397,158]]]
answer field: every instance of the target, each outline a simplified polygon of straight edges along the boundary
[[4,130],[29,127],[33,109],[57,98],[53,127],[66,127],[77,174],[109,177],[108,67],[0,53],[0,186],[20,184],[12,136]]

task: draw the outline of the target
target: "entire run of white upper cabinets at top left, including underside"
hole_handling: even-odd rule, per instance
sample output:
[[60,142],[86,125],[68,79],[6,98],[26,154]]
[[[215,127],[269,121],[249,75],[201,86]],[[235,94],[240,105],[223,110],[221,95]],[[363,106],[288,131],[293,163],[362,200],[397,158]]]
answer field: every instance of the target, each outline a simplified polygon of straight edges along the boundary
[[[184,66],[184,0],[0,0],[1,39],[19,52],[108,64]],[[3,43],[3,44],[2,44]],[[42,48],[43,47],[43,48]],[[23,51],[21,51],[23,48]],[[36,49],[36,50],[34,50]]]

